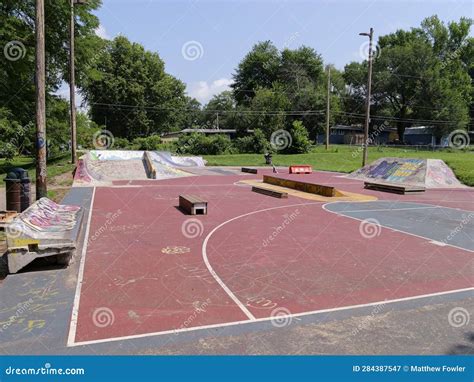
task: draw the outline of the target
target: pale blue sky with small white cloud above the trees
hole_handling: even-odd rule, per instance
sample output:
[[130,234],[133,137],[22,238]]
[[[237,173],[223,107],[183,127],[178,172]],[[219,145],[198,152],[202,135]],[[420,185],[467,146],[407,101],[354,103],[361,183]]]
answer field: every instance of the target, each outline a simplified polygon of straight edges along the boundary
[[[103,0],[98,34],[118,34],[158,52],[167,72],[205,103],[225,90],[239,61],[263,40],[278,48],[308,45],[325,63],[343,68],[361,61],[371,26],[375,37],[419,26],[437,14],[444,21],[473,17],[473,3],[445,1]],[[365,50],[364,50],[365,49]]]

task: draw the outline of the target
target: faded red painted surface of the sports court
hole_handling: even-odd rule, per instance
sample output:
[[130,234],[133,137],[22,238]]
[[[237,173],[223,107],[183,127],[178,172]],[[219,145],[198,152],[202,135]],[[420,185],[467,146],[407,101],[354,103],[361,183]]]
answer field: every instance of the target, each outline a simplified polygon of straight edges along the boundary
[[[381,200],[474,211],[470,190],[403,196],[367,191],[363,182],[334,173],[285,176]],[[261,174],[97,188],[75,341],[247,320],[206,268],[202,244],[221,223],[274,207],[288,206],[226,223],[207,245],[217,275],[256,318],[269,317],[274,309],[302,313],[473,285],[468,251],[386,228],[365,239],[358,221],[323,210],[324,203],[293,196],[275,199],[234,185],[256,178]],[[208,215],[186,216],[177,209],[178,195],[185,193],[206,198]],[[188,222],[197,231],[185,230],[188,219],[198,219]],[[174,247],[184,253],[166,253]],[[105,310],[112,312],[107,325],[100,321]]]

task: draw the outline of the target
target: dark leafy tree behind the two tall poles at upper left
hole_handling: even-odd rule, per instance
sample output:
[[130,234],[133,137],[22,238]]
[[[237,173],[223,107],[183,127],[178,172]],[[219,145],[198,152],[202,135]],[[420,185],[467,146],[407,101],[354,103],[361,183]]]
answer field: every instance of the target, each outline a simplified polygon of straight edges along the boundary
[[[22,126],[34,122],[35,4],[33,0],[3,0],[0,4],[0,104],[12,111]],[[78,85],[101,44],[93,11],[100,0],[76,7],[76,69]],[[68,1],[45,2],[47,92],[68,81]],[[66,47],[66,48],[65,48]],[[3,54],[6,52],[6,54]],[[47,105],[49,106],[49,105]]]

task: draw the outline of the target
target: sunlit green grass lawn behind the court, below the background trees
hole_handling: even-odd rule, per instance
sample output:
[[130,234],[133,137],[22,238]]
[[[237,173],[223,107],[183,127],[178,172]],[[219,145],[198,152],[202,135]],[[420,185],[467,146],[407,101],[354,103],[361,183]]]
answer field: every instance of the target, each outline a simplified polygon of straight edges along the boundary
[[[455,172],[458,179],[474,186],[474,151],[463,150],[415,150],[393,147],[369,147],[369,163],[381,157],[442,159]],[[205,155],[209,166],[264,166],[262,154]],[[308,154],[273,156],[275,166],[308,164],[315,170],[351,172],[361,167],[362,151],[355,146],[333,145],[329,151],[324,146],[314,148]]]

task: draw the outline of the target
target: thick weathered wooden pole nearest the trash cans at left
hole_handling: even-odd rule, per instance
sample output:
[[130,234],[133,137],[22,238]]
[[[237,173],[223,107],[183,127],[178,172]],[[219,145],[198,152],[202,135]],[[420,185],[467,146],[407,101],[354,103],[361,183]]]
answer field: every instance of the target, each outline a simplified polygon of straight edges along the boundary
[[44,0],[36,0],[36,199],[45,197],[46,186],[46,65],[44,42]]

